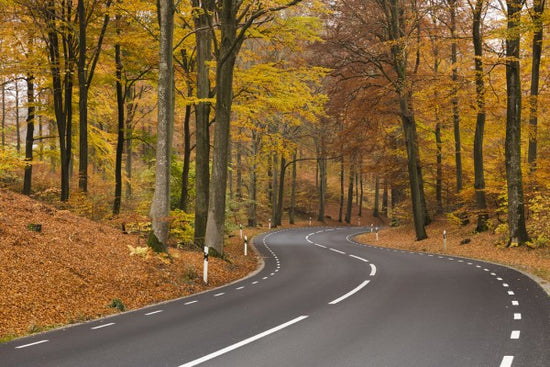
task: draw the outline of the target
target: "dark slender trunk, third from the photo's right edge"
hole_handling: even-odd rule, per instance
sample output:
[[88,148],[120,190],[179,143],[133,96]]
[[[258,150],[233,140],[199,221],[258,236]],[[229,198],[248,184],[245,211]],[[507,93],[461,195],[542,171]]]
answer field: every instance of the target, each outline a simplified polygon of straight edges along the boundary
[[483,39],[481,35],[481,13],[484,0],[476,0],[473,9],[472,39],[474,43],[474,64],[476,82],[477,118],[474,136],[474,188],[476,191],[477,226],[476,232],[488,229],[487,202],[485,199],[485,172],[483,162],[483,135],[485,131],[485,82],[483,80]]

